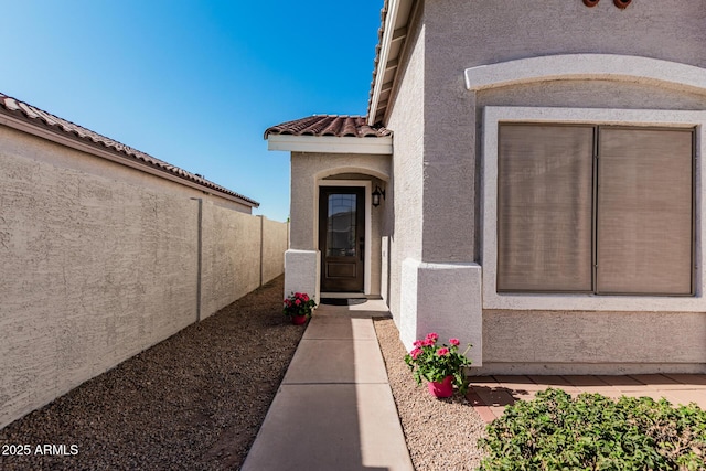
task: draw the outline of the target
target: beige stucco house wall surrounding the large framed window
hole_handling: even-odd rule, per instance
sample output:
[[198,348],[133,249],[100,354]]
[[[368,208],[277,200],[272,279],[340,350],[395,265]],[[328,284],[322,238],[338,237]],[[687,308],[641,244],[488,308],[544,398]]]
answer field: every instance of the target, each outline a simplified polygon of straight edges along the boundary
[[[578,53],[706,67],[706,10],[700,2],[678,0],[634,1],[627,10],[611,1],[589,9],[578,0],[442,0],[422,2],[418,21],[410,28],[404,82],[385,122],[395,133],[395,199],[400,202],[395,205],[393,231],[398,239],[391,242],[391,309],[398,325],[400,315],[430,328],[435,315],[445,322],[456,315],[458,325],[463,325],[468,313],[461,309],[415,311],[417,304],[400,306],[395,293],[414,288],[424,296],[429,288],[419,285],[420,277],[398,276],[409,258],[482,265],[485,106],[706,109],[706,97],[698,93],[628,82],[557,81],[475,94],[466,88],[464,71]],[[410,243],[411,238],[416,240]],[[482,299],[474,301],[481,306]],[[485,373],[706,371],[706,314],[702,313],[483,310],[482,318]]]

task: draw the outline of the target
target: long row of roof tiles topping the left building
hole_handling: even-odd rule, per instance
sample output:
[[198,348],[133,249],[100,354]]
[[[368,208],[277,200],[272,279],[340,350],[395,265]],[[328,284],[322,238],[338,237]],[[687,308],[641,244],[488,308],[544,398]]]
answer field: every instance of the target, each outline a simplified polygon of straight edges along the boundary
[[137,162],[146,167],[150,167],[152,169],[157,169],[168,174],[178,176],[180,179],[190,181],[208,190],[213,190],[215,192],[243,200],[255,207],[259,206],[259,203],[255,200],[252,200],[247,196],[213,183],[201,175],[188,172],[183,169],[180,169],[179,167],[174,167],[168,162],[156,159],[145,152],[140,152],[137,149],[132,149],[131,147],[106,138],[105,136],[101,136],[82,126],[75,125],[57,116],[43,111],[40,108],[36,108],[24,101],[20,101],[19,99],[9,97],[2,93],[0,93],[0,114],[19,118],[25,122],[50,130],[54,133],[89,143],[93,147],[97,147],[99,149],[101,148],[122,159],[126,159],[127,161]]

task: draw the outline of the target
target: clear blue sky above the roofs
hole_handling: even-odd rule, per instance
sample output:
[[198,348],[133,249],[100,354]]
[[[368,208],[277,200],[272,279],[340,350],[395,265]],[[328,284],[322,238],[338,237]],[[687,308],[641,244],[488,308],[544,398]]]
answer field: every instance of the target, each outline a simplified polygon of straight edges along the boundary
[[289,214],[266,128],[365,115],[383,0],[0,0],[0,92]]

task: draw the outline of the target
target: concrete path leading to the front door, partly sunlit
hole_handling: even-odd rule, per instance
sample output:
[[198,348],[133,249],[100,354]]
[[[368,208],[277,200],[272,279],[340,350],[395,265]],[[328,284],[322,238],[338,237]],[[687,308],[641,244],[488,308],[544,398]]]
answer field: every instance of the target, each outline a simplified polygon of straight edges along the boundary
[[243,464],[264,470],[414,470],[372,317],[382,301],[314,312]]

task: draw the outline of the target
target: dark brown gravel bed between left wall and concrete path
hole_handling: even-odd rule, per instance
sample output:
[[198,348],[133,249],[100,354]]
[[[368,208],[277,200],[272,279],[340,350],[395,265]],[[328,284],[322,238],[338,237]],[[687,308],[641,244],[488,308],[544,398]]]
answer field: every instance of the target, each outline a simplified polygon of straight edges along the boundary
[[[242,464],[303,334],[282,277],[0,430],[2,470],[222,470]],[[36,445],[76,456],[36,456]]]

